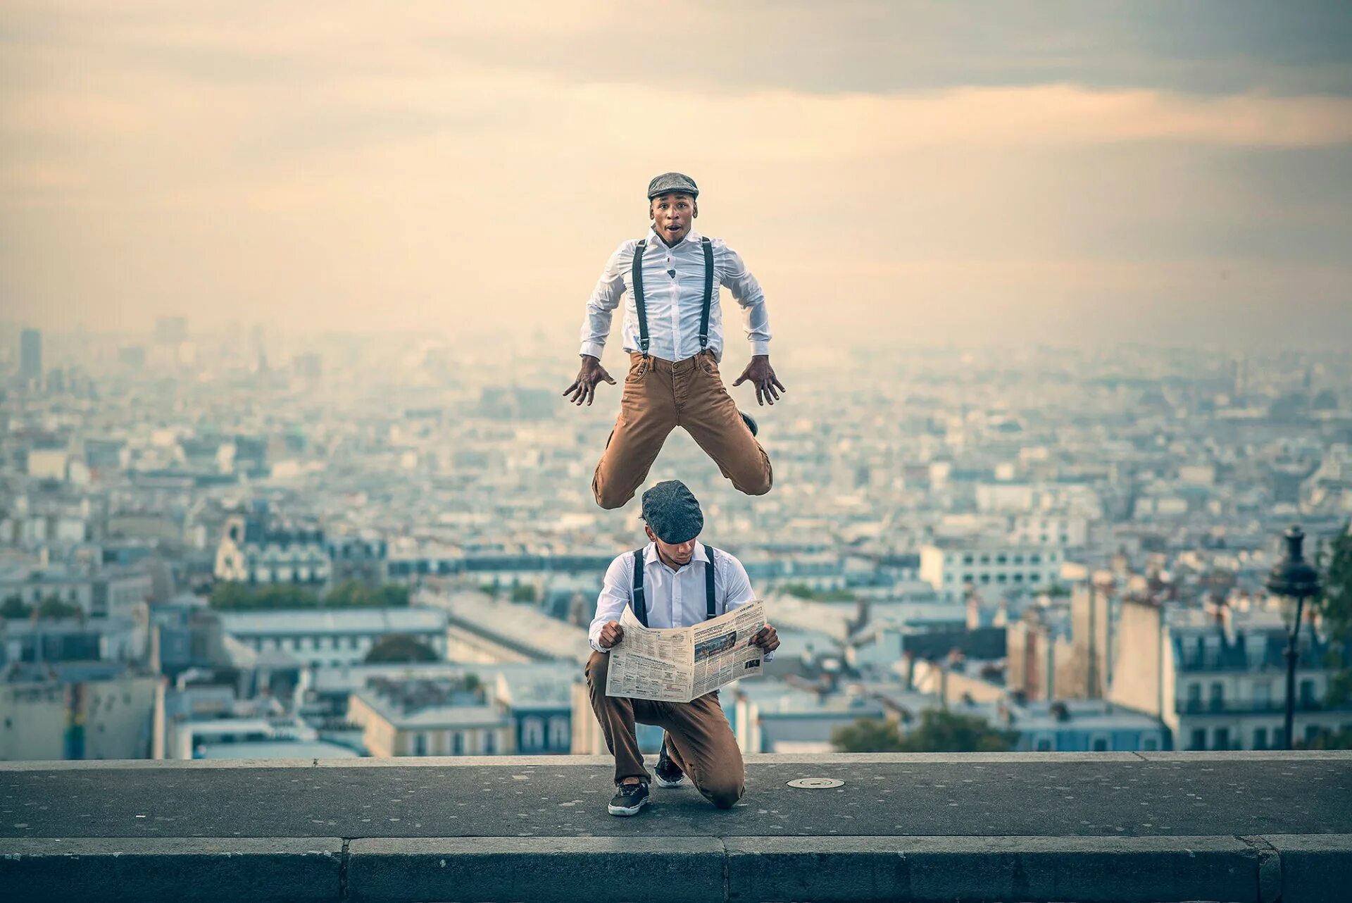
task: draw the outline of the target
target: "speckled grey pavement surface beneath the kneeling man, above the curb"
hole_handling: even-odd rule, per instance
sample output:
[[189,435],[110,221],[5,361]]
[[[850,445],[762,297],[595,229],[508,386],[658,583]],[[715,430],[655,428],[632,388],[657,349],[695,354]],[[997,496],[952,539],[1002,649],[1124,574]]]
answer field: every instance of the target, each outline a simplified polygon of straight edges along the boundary
[[[0,768],[0,837],[1352,834],[1352,756],[765,762],[714,810],[653,787],[606,814],[604,765]],[[465,761],[465,760],[460,760]],[[541,760],[531,760],[541,761]],[[836,789],[794,789],[836,777]]]

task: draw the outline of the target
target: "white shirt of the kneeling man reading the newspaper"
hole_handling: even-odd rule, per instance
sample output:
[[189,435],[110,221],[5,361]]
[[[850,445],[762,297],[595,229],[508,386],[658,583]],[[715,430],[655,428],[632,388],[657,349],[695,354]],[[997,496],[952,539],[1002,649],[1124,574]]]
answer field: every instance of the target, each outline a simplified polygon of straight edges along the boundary
[[[746,576],[742,562],[722,549],[714,566],[714,615],[722,615],[733,608],[756,600],[752,580]],[[644,549],[644,602],[648,607],[649,627],[694,627],[706,620],[708,610],[704,604],[704,569],[708,566],[708,552],[703,542],[695,543],[695,554],[690,564],[672,570],[657,554],[657,545],[649,542]],[[626,552],[610,562],[606,581],[596,599],[596,616],[589,631],[592,649],[610,652],[600,645],[600,629],[606,622],[619,620],[625,607],[634,595],[634,553]],[[765,661],[775,653],[765,653]]]

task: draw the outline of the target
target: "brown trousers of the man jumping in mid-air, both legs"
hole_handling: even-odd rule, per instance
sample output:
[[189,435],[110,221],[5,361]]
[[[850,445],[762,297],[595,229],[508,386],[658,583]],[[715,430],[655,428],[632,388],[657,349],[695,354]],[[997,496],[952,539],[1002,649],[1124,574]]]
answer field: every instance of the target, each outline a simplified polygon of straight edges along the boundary
[[630,351],[615,430],[592,477],[596,504],[618,508],[633,499],[677,426],[685,427],[738,491],[769,492],[769,456],[723,388],[714,353],[673,362]]

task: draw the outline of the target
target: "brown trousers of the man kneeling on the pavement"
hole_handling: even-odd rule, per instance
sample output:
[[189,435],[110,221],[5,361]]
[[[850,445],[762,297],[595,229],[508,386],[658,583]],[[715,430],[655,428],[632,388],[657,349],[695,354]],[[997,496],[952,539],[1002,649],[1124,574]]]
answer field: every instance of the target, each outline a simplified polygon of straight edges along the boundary
[[731,808],[746,789],[742,750],[737,748],[718,691],[688,703],[658,703],[606,695],[610,654],[592,652],[587,660],[587,687],[592,711],[615,757],[615,783],[626,777],[648,780],[644,754],[638,752],[634,722],[657,725],[667,731],[667,752],[685,772],[695,789],[718,808]]

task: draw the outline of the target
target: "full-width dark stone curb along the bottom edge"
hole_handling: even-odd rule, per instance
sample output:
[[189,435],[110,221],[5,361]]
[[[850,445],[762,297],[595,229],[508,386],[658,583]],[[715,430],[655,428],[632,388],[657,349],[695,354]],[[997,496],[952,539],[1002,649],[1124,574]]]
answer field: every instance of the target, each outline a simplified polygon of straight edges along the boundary
[[8,838],[5,903],[1348,899],[1352,835]]

